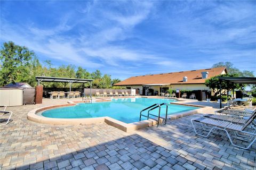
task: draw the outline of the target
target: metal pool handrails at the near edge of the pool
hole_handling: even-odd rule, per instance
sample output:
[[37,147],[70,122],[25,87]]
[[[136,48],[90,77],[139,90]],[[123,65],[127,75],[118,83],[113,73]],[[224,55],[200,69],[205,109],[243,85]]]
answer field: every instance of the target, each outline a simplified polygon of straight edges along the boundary
[[[161,114],[161,106],[165,105],[166,106],[166,113],[165,113],[165,117],[161,117],[160,114]],[[149,113],[150,111],[153,111],[154,109],[156,108],[159,108],[159,111],[158,111],[158,115],[154,115],[154,114],[151,114]],[[149,110],[148,110],[149,109]],[[148,115],[143,115],[142,112],[148,110]],[[155,121],[157,121],[157,127],[159,125],[159,122],[160,122],[160,118],[162,118],[164,120],[164,124],[166,125],[166,122],[167,122],[167,112],[168,112],[168,104],[167,103],[162,103],[162,104],[154,104],[154,105],[151,105],[145,109],[143,109],[142,111],[140,111],[140,121],[141,121],[141,116],[144,116],[144,117],[147,117],[147,119],[151,118]],[[150,117],[150,116],[155,116],[157,117],[156,118],[153,118],[153,117]]]

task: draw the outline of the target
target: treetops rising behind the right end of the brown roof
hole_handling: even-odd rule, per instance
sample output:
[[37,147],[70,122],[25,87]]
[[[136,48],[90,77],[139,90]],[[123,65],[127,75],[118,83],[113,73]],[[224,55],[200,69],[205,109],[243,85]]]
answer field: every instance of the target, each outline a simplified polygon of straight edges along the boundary
[[234,67],[234,64],[231,62],[219,62],[216,64],[213,64],[212,66],[213,68],[215,67],[226,67],[228,70],[228,74],[236,74],[237,77],[254,77],[253,71],[248,71],[248,70],[244,70],[244,71],[240,71],[239,69],[237,69],[236,67]]

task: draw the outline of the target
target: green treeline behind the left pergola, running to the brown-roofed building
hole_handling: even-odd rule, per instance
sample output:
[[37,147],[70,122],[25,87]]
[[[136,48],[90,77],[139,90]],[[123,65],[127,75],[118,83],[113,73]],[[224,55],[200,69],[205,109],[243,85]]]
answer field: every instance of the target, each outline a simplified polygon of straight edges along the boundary
[[[119,79],[111,79],[111,75],[102,74],[99,70],[90,73],[81,66],[62,65],[54,67],[49,60],[40,63],[33,51],[27,47],[15,45],[12,41],[2,45],[0,55],[0,86],[14,82],[26,82],[30,86],[35,87],[37,84],[36,76],[93,79],[93,88],[110,88],[113,84],[121,81]],[[44,82],[44,86],[64,87],[62,83],[51,82]],[[89,86],[89,84],[85,84],[86,86]],[[82,85],[74,84],[73,87],[82,87]]]

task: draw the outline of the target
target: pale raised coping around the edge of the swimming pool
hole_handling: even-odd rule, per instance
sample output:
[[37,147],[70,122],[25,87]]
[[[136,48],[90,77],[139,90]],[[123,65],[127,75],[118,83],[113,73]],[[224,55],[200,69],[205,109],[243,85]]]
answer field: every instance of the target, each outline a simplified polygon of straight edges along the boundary
[[[106,102],[111,100],[101,100],[97,102]],[[64,107],[64,106],[75,106],[78,103],[84,103],[84,101],[68,101],[67,104],[59,104],[59,105],[51,105],[33,109],[32,111],[28,112],[27,119],[29,121],[33,121],[36,123],[43,123],[43,124],[54,124],[54,125],[79,125],[79,124],[93,124],[93,123],[107,123],[115,128],[118,128],[124,132],[131,132],[134,130],[147,128],[149,126],[154,126],[157,124],[155,120],[145,120],[140,122],[134,123],[124,123],[118,121],[114,118],[104,116],[104,117],[93,117],[93,118],[50,118],[37,115],[37,113],[45,111],[47,109],[57,108],[57,107]],[[174,120],[183,116],[188,116],[191,114],[196,114],[198,111],[203,112],[204,109],[209,108],[208,106],[199,106],[199,105],[191,105],[191,104],[182,104],[182,103],[170,103],[172,105],[183,105],[183,106],[192,106],[192,107],[199,107],[197,109],[180,112],[172,115],[167,115],[167,120]],[[162,123],[163,120],[161,119],[159,123]]]

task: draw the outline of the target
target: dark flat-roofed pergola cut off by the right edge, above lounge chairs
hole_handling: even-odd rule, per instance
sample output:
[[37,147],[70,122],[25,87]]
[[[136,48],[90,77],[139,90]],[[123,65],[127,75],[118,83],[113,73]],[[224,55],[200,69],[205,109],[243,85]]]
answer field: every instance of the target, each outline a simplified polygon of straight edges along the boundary
[[[220,82],[220,91],[221,89],[221,82],[226,81],[227,82],[227,90],[229,89],[228,84],[232,83],[232,89],[233,89],[233,98],[234,98],[234,84],[256,84],[256,78],[250,78],[250,77],[219,77]],[[221,92],[220,92],[220,98],[221,98]],[[228,100],[228,91],[227,91],[227,100]],[[220,108],[221,108],[221,99],[220,99]]]

